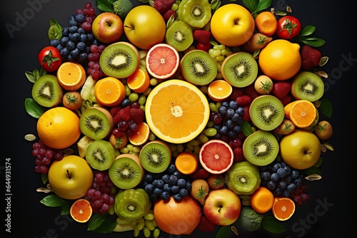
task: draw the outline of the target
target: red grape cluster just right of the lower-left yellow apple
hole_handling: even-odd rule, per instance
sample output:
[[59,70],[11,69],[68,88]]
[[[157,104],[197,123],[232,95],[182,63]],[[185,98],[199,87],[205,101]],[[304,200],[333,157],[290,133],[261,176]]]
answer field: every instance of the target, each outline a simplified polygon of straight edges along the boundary
[[114,205],[114,197],[115,186],[111,182],[108,170],[94,170],[93,184],[86,193],[86,199],[91,202],[93,212],[109,212],[109,207]]

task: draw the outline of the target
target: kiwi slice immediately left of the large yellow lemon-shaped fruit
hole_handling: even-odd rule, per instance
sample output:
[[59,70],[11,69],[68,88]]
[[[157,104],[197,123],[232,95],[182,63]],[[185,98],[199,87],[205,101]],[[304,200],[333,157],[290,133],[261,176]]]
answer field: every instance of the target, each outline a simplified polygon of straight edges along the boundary
[[231,86],[243,88],[256,80],[258,63],[250,53],[233,53],[224,59],[221,73],[224,80],[231,83]]

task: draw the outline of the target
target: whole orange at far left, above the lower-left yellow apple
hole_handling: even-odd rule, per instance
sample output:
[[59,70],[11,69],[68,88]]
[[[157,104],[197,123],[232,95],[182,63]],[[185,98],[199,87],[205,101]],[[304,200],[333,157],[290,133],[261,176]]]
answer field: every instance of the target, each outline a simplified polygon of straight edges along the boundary
[[81,135],[78,115],[64,107],[46,110],[36,128],[42,143],[54,149],[68,148]]

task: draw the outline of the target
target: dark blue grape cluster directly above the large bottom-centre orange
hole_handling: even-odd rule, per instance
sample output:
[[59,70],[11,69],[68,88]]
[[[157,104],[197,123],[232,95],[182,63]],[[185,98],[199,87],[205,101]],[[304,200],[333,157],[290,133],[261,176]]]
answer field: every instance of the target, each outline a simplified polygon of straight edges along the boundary
[[171,164],[164,172],[146,173],[143,186],[151,200],[161,198],[167,201],[172,195],[174,200],[180,201],[190,192],[191,181]]

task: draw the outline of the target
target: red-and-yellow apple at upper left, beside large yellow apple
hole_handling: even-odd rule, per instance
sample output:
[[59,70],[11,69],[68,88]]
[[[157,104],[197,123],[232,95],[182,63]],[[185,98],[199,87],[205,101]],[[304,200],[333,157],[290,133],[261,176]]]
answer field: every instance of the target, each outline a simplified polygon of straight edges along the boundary
[[121,18],[111,12],[102,12],[92,22],[91,31],[94,37],[103,43],[114,43],[124,33]]

